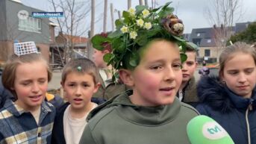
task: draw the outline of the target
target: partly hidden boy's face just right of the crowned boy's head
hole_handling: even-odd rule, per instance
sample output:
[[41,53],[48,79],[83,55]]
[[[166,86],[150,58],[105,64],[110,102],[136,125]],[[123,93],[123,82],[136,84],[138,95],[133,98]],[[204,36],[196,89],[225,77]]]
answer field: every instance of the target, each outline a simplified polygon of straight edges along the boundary
[[187,60],[182,64],[182,83],[190,81],[196,71],[196,52],[187,51]]

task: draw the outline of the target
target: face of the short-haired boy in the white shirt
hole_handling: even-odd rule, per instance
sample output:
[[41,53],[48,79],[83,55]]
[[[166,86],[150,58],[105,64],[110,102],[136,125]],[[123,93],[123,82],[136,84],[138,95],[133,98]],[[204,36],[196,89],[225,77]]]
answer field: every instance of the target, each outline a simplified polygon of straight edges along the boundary
[[87,110],[93,93],[99,84],[94,84],[93,76],[87,73],[71,72],[66,75],[66,81],[61,82],[66,98],[72,108]]

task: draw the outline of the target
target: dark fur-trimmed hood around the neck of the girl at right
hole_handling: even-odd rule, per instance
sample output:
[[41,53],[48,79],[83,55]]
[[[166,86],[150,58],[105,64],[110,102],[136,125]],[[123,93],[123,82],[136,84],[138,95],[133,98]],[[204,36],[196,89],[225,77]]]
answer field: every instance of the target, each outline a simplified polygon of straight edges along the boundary
[[197,93],[200,103],[207,104],[213,110],[220,110],[222,113],[231,111],[234,108],[247,109],[249,104],[256,106],[255,89],[252,98],[237,96],[223,84],[217,76],[210,75],[202,77],[197,86]]

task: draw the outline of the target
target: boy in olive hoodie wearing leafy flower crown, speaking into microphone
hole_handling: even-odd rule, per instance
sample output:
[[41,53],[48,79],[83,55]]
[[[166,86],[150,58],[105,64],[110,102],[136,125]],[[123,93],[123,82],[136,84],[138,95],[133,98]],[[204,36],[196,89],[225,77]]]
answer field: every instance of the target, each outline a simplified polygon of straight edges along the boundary
[[[109,42],[113,52],[104,60],[132,87],[94,109],[80,143],[189,144],[187,123],[197,111],[175,94],[182,81],[181,61],[186,60],[182,22],[169,3],[154,10],[137,6],[116,21],[117,31],[107,38],[93,37],[93,46]],[[151,25],[150,27],[146,26]],[[181,55],[180,55],[181,54]]]

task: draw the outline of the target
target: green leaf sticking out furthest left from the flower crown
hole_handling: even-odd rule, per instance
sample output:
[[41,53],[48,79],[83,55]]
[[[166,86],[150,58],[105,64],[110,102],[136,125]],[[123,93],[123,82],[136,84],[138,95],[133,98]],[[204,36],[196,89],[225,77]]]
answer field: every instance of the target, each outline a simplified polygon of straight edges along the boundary
[[100,35],[96,35],[92,38],[91,42],[93,43],[93,48],[96,48],[99,51],[103,50],[102,43],[111,42],[111,39],[109,37],[102,37]]

